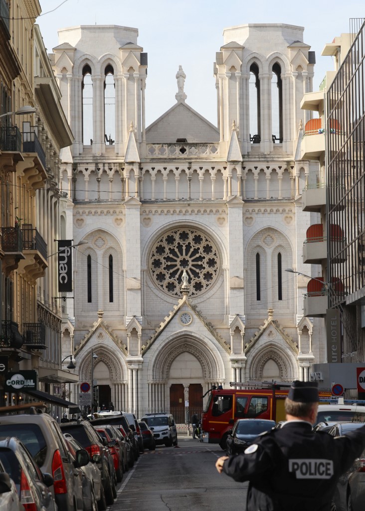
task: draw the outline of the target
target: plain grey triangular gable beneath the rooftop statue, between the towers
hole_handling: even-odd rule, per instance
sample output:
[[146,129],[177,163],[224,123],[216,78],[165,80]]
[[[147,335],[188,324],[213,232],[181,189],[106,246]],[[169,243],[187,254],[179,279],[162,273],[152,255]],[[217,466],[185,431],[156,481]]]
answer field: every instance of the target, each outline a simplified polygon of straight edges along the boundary
[[220,132],[185,102],[176,103],[146,129],[147,143],[173,143],[186,138],[188,143],[219,142]]

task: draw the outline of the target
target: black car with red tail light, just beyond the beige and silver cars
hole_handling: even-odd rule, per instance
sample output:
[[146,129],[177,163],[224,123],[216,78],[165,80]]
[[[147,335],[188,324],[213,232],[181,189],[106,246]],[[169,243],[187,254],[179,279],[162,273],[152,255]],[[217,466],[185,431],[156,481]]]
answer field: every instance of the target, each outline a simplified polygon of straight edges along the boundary
[[116,498],[114,461],[109,448],[105,445],[106,442],[103,442],[90,422],[83,419],[76,422],[65,422],[61,424],[61,430],[62,433],[72,435],[86,449],[91,458],[94,454],[101,456],[100,462],[96,464],[101,472],[106,503],[113,504],[114,498]]

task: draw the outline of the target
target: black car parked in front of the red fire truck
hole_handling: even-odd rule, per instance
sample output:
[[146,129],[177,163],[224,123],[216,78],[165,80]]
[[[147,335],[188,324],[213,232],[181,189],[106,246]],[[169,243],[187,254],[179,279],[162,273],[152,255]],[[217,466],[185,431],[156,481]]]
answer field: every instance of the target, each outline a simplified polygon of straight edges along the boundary
[[275,425],[275,421],[265,419],[239,419],[228,432],[227,456],[244,452],[259,434],[273,429]]

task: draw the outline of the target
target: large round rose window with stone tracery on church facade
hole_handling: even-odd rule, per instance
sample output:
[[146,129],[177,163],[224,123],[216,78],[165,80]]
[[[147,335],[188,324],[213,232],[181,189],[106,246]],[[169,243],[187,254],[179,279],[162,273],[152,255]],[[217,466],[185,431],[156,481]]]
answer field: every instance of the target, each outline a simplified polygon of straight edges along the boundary
[[157,240],[150,253],[150,273],[156,286],[165,293],[181,296],[184,270],[190,284],[189,296],[208,289],[220,271],[215,244],[194,229],[169,231]]

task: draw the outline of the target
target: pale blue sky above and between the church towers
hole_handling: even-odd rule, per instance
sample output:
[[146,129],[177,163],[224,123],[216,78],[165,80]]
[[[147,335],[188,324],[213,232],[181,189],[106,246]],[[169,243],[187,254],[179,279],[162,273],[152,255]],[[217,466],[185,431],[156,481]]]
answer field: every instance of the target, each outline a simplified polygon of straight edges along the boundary
[[[365,17],[362,2],[331,0],[40,0],[36,20],[48,53],[58,45],[58,29],[78,25],[120,25],[138,29],[138,44],[148,53],[146,126],[175,105],[179,65],[186,75],[186,103],[216,125],[215,53],[223,30],[248,23],[285,23],[304,27],[304,42],[315,52],[313,90],[331,57],[322,57],[326,43],[348,33],[350,18]],[[53,11],[53,12],[50,12]]]

